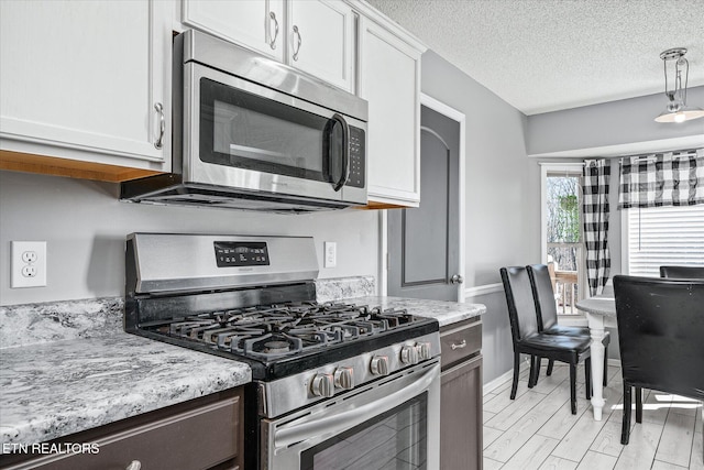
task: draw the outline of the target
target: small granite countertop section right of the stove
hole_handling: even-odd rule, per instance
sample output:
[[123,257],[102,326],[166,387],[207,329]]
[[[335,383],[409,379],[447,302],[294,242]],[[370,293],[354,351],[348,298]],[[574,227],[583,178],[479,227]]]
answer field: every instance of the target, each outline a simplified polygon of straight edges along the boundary
[[370,307],[381,306],[383,309],[405,308],[411,315],[436,318],[441,327],[486,313],[486,306],[483,304],[460,304],[446,300],[380,296],[352,297],[343,300],[355,305],[369,305]]

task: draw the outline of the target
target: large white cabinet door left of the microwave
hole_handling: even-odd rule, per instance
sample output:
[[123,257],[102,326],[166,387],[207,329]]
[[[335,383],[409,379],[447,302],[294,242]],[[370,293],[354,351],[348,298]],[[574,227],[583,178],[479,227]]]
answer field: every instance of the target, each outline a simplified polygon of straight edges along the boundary
[[0,1],[2,150],[168,170],[170,8]]

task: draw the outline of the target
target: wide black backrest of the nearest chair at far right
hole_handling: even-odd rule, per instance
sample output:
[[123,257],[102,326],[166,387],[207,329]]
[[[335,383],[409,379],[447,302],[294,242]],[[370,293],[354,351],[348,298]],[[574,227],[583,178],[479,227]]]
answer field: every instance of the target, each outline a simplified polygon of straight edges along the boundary
[[624,380],[704,400],[704,281],[614,276]]

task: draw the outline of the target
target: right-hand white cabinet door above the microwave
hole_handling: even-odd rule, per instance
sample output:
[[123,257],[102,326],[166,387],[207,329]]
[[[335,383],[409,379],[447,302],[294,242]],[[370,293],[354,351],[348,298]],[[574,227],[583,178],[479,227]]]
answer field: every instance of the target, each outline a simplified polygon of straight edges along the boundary
[[292,0],[288,6],[288,64],[353,91],[352,9],[341,0]]

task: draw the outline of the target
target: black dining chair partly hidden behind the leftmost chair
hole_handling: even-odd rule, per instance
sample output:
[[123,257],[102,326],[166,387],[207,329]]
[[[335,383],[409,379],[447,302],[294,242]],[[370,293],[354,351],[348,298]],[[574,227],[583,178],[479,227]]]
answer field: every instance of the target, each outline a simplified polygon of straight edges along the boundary
[[[554,289],[552,287],[552,280],[550,278],[550,270],[546,264],[531,264],[526,266],[528,270],[528,277],[530,277],[530,287],[532,288],[532,298],[536,303],[536,313],[538,314],[538,330],[546,335],[564,335],[574,337],[587,337],[591,338],[588,327],[575,327],[558,324],[558,307],[554,303]],[[606,372],[608,371],[608,345],[612,341],[612,337],[606,331],[602,345],[604,345],[604,386],[606,386]],[[536,381],[540,375],[540,361],[541,358],[535,358],[535,373]],[[552,374],[552,368],[554,365],[553,360],[548,361],[548,375]],[[535,383],[534,383],[535,385]]]

